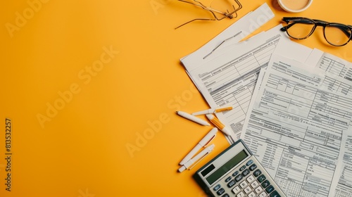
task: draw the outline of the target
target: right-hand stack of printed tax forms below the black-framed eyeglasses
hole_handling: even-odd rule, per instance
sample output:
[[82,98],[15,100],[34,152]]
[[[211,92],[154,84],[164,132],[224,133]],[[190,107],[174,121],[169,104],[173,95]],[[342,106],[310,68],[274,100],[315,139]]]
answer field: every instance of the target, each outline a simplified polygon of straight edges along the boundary
[[[277,50],[291,46],[306,50]],[[281,52],[260,71],[241,139],[287,196],[351,196],[352,64],[318,49],[304,61]]]

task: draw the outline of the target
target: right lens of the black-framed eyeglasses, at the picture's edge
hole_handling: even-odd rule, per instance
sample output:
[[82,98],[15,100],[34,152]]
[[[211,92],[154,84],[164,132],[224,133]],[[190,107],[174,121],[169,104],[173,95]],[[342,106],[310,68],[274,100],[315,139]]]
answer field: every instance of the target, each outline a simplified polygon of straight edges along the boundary
[[329,44],[342,46],[351,39],[351,29],[345,25],[330,23],[324,30],[325,39]]

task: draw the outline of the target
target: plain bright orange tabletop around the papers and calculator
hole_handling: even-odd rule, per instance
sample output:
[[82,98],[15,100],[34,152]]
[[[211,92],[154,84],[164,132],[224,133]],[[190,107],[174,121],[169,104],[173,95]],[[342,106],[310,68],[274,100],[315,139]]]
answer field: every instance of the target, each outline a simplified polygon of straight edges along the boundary
[[[274,0],[240,2],[238,18],[265,2],[275,13],[254,34],[284,16],[352,25],[347,0],[313,1],[302,13]],[[211,128],[175,113],[208,108],[179,59],[238,18],[175,30],[209,16],[175,0],[3,1],[0,9],[0,196],[205,196],[191,175],[229,143],[219,132],[210,155],[177,172]],[[321,28],[298,43],[352,61],[352,43],[328,46]]]

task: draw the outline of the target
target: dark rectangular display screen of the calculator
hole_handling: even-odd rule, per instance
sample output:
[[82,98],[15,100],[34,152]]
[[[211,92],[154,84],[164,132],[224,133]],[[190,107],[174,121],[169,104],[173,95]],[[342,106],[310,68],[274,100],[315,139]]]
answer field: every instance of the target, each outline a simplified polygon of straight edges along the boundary
[[215,170],[213,174],[210,174],[209,177],[206,177],[206,181],[209,184],[213,184],[216,180],[218,180],[223,174],[226,174],[229,170],[232,169],[232,167],[236,166],[239,164],[244,158],[246,158],[248,154],[246,151],[241,151],[237,155],[235,155],[233,158],[231,158],[227,163],[222,165],[218,170]]

